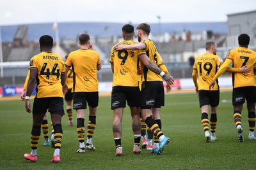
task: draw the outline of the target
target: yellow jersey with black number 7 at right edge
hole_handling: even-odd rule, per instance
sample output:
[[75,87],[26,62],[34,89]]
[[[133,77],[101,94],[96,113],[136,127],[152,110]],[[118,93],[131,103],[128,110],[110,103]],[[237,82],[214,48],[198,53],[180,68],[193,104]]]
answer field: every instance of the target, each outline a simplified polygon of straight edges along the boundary
[[254,75],[254,67],[256,64],[256,52],[245,47],[235,48],[230,50],[227,55],[227,59],[232,60],[234,68],[241,68],[247,66],[251,68],[249,73],[232,73],[233,86],[245,87],[256,86],[256,80]]

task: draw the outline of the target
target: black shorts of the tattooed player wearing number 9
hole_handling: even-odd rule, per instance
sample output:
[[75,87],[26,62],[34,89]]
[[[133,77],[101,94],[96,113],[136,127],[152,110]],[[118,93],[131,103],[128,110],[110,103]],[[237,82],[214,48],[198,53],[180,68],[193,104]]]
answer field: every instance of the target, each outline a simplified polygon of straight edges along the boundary
[[126,101],[130,107],[140,107],[139,87],[115,86],[111,92],[111,110],[125,108]]

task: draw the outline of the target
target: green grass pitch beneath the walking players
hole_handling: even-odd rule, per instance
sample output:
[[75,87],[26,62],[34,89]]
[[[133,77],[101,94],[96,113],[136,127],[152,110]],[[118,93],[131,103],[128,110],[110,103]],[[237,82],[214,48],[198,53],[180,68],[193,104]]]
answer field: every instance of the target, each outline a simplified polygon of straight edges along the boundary
[[[163,155],[153,155],[145,149],[140,155],[134,155],[131,116],[126,107],[122,121],[124,156],[116,157],[111,100],[109,96],[100,97],[93,136],[95,152],[76,153],[79,143],[76,111],[73,111],[74,127],[68,127],[67,114],[62,118],[60,164],[51,163],[54,149],[43,146],[42,132],[38,144],[38,161],[24,159],[23,154],[31,151],[31,113],[25,111],[22,101],[0,101],[0,169],[256,169],[256,141],[248,139],[246,106],[242,113],[244,143],[239,143],[232,117],[232,93],[221,92],[220,98],[216,128],[218,139],[205,143],[198,96],[195,93],[166,94],[166,104],[161,109],[162,130],[171,138],[171,143],[166,146]],[[87,121],[88,110],[84,122]]]

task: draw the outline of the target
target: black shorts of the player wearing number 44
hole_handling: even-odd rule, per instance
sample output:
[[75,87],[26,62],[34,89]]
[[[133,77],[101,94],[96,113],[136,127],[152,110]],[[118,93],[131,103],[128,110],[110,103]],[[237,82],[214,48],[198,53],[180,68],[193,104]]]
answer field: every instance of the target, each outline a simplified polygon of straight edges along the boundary
[[63,110],[63,97],[36,98],[33,103],[33,114],[45,114],[47,110],[52,114],[65,115]]

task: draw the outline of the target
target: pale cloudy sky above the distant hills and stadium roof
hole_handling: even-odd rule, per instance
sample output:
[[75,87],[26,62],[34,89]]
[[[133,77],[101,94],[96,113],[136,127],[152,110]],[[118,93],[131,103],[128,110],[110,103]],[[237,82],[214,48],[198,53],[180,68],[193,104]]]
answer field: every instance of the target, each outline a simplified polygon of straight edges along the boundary
[[227,14],[256,10],[255,0],[9,0],[0,24],[44,22],[225,22]]

